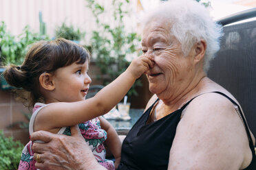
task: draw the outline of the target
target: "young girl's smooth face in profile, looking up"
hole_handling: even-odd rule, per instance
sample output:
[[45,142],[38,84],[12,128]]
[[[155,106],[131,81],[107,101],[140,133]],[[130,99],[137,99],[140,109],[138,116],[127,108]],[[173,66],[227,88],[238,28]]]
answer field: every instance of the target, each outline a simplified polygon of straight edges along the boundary
[[89,84],[92,82],[88,71],[88,62],[57,69],[54,73],[55,92],[57,101],[81,101],[87,95]]

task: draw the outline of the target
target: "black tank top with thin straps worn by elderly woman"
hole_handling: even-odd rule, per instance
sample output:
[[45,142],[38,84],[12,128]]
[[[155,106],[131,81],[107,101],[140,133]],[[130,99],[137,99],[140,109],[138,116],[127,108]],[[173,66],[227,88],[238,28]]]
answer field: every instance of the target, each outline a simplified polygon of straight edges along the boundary
[[[213,93],[219,93],[220,95],[223,95],[224,97],[228,98],[235,106],[238,106],[235,101],[223,93]],[[195,99],[195,97],[193,99]],[[182,111],[193,99],[184,104],[182,108],[175,110],[165,117],[162,117],[162,119],[147,123],[149,114],[154,104],[156,104],[158,101],[157,99],[155,103],[144,114],[142,114],[140,119],[138,119],[138,121],[134,124],[134,126],[127,134],[127,137],[123,141],[121,161],[120,165],[118,166],[118,170],[167,169],[169,163],[169,151],[173,143],[176,127],[180,122]],[[256,156],[253,141],[240,108],[239,111],[244,121],[244,125],[246,126],[250,149],[253,153],[253,160],[250,162],[250,165],[246,169],[255,170]]]

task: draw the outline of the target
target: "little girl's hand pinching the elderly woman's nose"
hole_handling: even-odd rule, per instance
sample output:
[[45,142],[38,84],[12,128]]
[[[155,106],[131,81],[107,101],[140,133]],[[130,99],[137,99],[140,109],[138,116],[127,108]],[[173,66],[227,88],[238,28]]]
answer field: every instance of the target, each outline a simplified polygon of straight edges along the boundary
[[135,79],[138,79],[140,75],[147,72],[150,68],[153,68],[153,58],[142,55],[131,61],[127,71],[129,71]]

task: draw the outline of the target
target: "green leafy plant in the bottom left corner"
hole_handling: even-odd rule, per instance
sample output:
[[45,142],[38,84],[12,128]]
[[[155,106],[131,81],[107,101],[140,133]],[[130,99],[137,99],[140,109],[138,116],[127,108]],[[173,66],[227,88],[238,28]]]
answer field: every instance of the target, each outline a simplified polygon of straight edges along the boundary
[[0,130],[0,169],[17,169],[23,147],[21,142],[7,138]]

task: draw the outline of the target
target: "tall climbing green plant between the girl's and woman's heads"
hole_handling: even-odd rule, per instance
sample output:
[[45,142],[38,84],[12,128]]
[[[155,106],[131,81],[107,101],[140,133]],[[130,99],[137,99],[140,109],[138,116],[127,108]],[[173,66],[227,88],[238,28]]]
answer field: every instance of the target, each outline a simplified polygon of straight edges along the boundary
[[[114,22],[105,23],[102,16],[105,14],[103,5],[97,3],[96,0],[86,0],[87,7],[92,10],[92,14],[96,19],[97,30],[92,32],[90,38],[92,55],[96,61],[96,65],[100,67],[101,75],[99,79],[103,80],[103,85],[109,84],[120,75],[129,66],[127,56],[135,54],[137,56],[137,45],[140,37],[134,32],[125,31],[124,16],[129,15],[129,0],[116,1],[112,0],[113,13],[111,17]],[[107,75],[103,78],[102,75]],[[128,95],[138,95],[136,86],[142,86],[140,80],[137,80],[134,86],[129,90]]]

